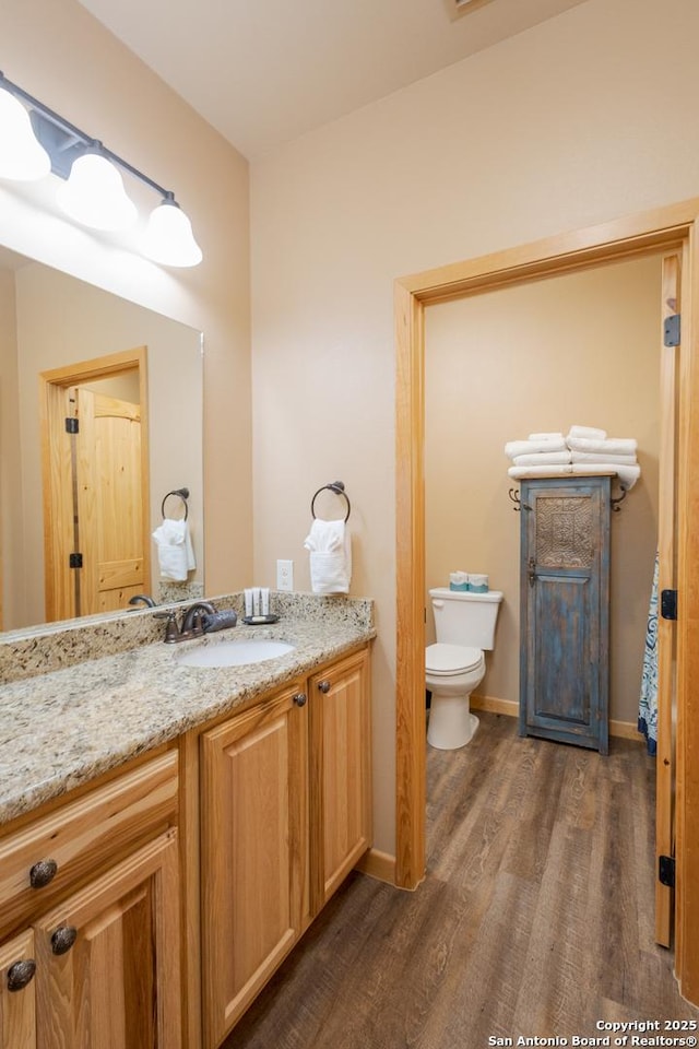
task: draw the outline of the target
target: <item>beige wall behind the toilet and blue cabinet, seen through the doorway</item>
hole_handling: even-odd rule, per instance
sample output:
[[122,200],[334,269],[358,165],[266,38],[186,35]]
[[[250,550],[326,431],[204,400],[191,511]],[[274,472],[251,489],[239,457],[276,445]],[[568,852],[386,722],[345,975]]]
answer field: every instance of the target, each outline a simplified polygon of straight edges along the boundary
[[519,699],[519,486],[505,443],[599,426],[639,444],[641,479],[612,514],[609,696],[612,718],[637,722],[657,535],[660,281],[651,258],[427,310],[427,587],[464,569],[505,592],[479,695]]

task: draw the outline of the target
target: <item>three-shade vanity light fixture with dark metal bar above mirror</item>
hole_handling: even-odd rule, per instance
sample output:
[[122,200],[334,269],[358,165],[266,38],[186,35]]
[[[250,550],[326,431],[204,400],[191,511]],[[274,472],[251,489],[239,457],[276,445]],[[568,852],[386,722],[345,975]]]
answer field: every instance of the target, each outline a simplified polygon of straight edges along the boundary
[[198,266],[201,248],[170,190],[0,72],[0,178],[37,180],[52,172],[63,180],[56,199],[66,214],[93,229],[116,232],[138,217],[119,168],[162,198],[146,223],[142,254],[162,266]]

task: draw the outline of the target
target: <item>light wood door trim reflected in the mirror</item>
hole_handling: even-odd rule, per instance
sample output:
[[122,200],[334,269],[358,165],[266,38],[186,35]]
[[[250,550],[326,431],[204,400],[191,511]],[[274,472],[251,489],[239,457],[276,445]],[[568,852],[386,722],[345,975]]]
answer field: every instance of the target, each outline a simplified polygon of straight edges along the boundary
[[[149,385],[147,385],[147,347],[137,346],[133,350],[123,350],[119,353],[106,354],[103,357],[93,357],[76,364],[64,365],[39,373],[39,427],[42,434],[42,476],[44,483],[44,580],[45,580],[45,610],[47,622],[56,618],[56,580],[59,577],[59,558],[56,554],[54,539],[60,534],[60,493],[54,484],[51,469],[51,421],[57,412],[57,394],[71,386],[87,382],[92,379],[106,378],[121,372],[138,368],[139,398],[141,405],[141,426],[145,439],[141,441],[141,504],[143,514],[143,569],[145,579],[151,577],[151,529],[150,529],[150,492],[149,478]],[[60,485],[59,485],[60,487]]]

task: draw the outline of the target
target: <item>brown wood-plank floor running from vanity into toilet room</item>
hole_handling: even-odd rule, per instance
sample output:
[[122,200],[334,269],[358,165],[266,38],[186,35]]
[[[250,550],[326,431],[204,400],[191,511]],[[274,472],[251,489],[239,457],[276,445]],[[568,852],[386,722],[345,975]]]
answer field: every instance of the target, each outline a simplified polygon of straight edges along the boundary
[[596,1022],[699,1021],[653,942],[653,761],[479,718],[469,746],[428,749],[418,891],[353,874],[225,1049],[571,1045],[608,1035]]

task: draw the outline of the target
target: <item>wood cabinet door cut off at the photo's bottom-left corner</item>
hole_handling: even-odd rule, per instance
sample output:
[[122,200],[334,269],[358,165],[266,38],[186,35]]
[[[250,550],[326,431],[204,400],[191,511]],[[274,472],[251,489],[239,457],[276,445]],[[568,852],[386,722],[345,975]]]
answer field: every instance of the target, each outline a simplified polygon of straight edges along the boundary
[[0,1049],[36,1049],[34,933],[0,946]]

